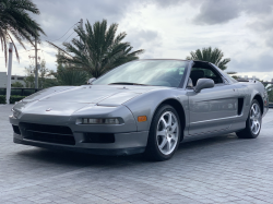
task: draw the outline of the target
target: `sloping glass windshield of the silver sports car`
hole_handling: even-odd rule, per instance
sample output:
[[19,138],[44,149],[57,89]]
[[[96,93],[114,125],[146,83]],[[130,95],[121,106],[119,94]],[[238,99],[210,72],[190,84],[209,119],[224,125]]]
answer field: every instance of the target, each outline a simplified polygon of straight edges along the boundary
[[179,60],[132,61],[111,70],[93,84],[178,87],[187,65],[187,61]]

